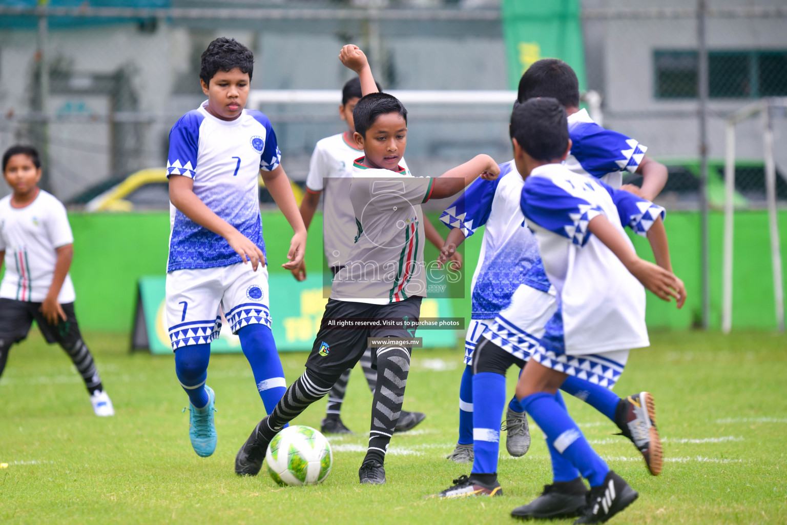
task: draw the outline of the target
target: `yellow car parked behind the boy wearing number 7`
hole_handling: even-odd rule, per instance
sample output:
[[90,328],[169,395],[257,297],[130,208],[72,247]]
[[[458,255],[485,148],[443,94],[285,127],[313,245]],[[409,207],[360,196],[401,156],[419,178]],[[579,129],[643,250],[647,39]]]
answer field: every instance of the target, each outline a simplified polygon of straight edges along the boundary
[[[273,202],[271,194],[265,189],[262,176],[257,176],[257,179],[260,184],[260,203]],[[290,184],[295,201],[300,206],[303,188],[292,181]],[[85,203],[87,212],[134,212],[153,209],[169,209],[169,183],[164,168],[146,168],[131,173],[120,183],[113,184],[108,190]]]

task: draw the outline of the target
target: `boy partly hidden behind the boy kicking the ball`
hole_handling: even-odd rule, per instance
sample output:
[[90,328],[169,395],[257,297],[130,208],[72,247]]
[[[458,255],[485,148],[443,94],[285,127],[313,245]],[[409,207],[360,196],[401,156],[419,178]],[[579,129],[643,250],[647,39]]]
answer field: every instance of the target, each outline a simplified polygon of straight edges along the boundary
[[[382,92],[379,83],[377,90]],[[352,177],[353,161],[363,153],[363,150],[357,148],[355,139],[353,139],[355,133],[353,109],[361,96],[360,79],[357,76],[349,79],[342,87],[342,105],[339,105],[339,117],[347,124],[347,130],[317,142],[314,153],[312,153],[312,160],[309,162],[306,193],[301,201],[301,218],[305,227],[309,229],[317,206],[320,204],[320,194],[323,191],[325,193],[323,197],[323,250],[333,275],[344,268],[349,249],[353,246],[353,232],[356,228],[355,215],[346,202],[349,184],[343,184],[343,181],[339,179],[345,179],[349,183]],[[404,158],[401,159],[400,164],[403,168],[407,168]],[[427,238],[439,250],[443,244],[442,236],[438,234],[438,231],[434,229],[426,217],[424,217],[423,226]],[[305,261],[301,261],[301,265],[292,272],[295,279],[299,281],[306,279]],[[371,368],[371,349],[366,349],[360,358],[360,367],[364,371],[369,390],[374,395],[377,372]],[[345,427],[341,417],[342,403],[347,391],[350,372],[352,370],[348,368],[328,393],[325,418],[320,423],[320,430],[323,432],[352,434],[352,431]],[[396,431],[408,431],[425,418],[426,415],[422,412],[402,410]]]

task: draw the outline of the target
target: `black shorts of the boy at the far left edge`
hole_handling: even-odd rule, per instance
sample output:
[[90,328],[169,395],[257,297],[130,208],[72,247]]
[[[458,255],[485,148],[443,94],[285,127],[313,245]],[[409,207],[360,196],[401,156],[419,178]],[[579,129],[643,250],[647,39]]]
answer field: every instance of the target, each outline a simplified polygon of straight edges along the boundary
[[76,342],[81,336],[79,325],[76,324],[74,303],[65,303],[61,308],[65,312],[66,320],[60,320],[55,325],[46,320],[39,302],[0,298],[0,339],[7,338],[12,342],[20,342],[28,337],[30,327],[35,320],[46,342],[50,344],[58,342],[61,345]]

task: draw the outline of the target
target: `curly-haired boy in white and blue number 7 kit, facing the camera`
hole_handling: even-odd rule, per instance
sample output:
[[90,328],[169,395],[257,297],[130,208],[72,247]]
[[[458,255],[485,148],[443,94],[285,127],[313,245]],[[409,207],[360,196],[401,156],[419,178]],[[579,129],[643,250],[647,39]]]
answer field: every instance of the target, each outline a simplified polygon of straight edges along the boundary
[[271,122],[259,111],[244,109],[253,60],[235,39],[210,43],[200,67],[208,100],[186,113],[169,134],[167,176],[174,209],[166,311],[176,374],[190,400],[191,446],[201,457],[216,449],[216,396],[205,380],[221,311],[241,340],[267,412],[286,386],[271,333],[258,174],[294,230],[283,268],[297,268],[305,248],[306,229]]

